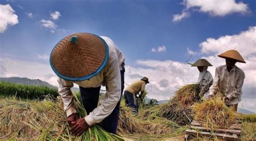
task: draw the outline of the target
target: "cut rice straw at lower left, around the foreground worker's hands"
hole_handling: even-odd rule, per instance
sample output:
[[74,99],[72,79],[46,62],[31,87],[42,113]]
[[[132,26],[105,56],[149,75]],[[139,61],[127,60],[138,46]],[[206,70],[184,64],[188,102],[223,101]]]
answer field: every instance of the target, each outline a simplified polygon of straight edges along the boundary
[[[77,111],[80,117],[86,112],[76,97]],[[5,102],[5,103],[4,103]],[[34,101],[35,102],[35,101]],[[8,104],[9,103],[9,104]],[[36,102],[35,102],[36,103]],[[98,125],[93,125],[80,137],[70,135],[69,126],[63,110],[63,104],[51,98],[33,102],[1,100],[0,137],[1,139],[35,140],[122,140],[121,137],[107,133]],[[41,109],[38,111],[37,109]]]

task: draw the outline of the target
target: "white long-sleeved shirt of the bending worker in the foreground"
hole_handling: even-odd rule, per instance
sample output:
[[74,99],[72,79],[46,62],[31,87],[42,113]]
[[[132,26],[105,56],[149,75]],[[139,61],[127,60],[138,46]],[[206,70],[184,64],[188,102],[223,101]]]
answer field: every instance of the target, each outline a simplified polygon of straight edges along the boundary
[[84,88],[107,86],[106,94],[100,100],[100,105],[85,117],[86,123],[90,126],[101,122],[104,118],[109,116],[114,107],[116,107],[121,96],[120,70],[122,70],[122,64],[124,63],[124,55],[110,38],[101,38],[103,38],[109,46],[109,59],[106,66],[99,74],[85,81],[67,81],[62,78],[58,79],[58,91],[59,95],[62,97],[64,110],[66,111],[67,116],[76,112],[73,105],[73,95],[70,90],[70,88],[73,87],[73,83]]

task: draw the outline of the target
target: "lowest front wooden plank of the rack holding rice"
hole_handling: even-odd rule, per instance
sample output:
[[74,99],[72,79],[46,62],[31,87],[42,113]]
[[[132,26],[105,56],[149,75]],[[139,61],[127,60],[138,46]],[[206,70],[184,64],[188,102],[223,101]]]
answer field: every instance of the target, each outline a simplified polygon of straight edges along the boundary
[[187,129],[186,130],[186,134],[187,135],[196,135],[196,136],[207,136],[207,137],[212,137],[212,136],[217,136],[219,138],[222,139],[232,139],[232,140],[238,140],[238,136],[231,136],[231,135],[226,135],[223,133],[208,133],[208,132],[199,132],[196,130],[191,130],[191,129]]

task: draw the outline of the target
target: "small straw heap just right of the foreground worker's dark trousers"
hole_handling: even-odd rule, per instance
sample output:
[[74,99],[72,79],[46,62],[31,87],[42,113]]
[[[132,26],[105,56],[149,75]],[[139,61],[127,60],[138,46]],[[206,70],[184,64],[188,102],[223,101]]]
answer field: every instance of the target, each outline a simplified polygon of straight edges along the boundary
[[126,107],[125,101],[121,101],[117,126],[118,133],[143,133],[144,131],[140,130],[141,128],[142,125],[139,123],[138,119],[133,115],[132,108]]

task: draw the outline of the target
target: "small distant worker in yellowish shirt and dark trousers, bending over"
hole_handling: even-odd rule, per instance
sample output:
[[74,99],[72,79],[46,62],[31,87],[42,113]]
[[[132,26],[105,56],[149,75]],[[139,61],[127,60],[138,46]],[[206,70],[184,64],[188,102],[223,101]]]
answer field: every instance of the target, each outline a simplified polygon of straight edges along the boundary
[[130,84],[124,91],[125,104],[128,107],[133,108],[134,114],[138,114],[139,110],[137,95],[140,99],[142,98],[147,83],[149,83],[149,79],[147,77],[143,77],[139,81]]

